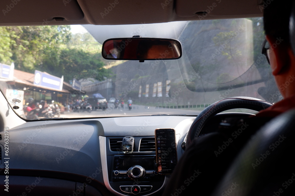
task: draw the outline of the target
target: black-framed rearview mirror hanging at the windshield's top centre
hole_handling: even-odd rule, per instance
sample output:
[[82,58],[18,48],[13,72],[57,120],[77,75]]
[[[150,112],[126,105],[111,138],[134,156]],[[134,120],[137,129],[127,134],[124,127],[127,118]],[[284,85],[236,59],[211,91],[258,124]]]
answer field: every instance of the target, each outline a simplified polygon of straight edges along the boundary
[[178,59],[181,43],[175,39],[116,38],[104,41],[102,56],[111,60]]

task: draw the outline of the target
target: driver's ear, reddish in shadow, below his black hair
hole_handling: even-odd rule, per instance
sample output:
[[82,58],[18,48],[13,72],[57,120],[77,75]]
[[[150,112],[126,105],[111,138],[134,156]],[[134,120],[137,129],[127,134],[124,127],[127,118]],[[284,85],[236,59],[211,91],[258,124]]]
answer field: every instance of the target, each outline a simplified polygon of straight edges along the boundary
[[274,76],[277,76],[290,66],[288,47],[286,47],[283,41],[280,43],[276,38],[269,35],[266,35],[266,40],[270,45],[269,61],[271,64],[271,71]]

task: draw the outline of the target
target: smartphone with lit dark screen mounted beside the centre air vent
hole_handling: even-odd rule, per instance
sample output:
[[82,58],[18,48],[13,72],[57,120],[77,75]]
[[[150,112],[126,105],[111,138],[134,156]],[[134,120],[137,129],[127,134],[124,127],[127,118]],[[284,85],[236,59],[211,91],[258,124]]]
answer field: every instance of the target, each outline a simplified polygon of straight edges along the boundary
[[172,128],[155,130],[156,160],[159,174],[171,174],[177,163],[176,136]]

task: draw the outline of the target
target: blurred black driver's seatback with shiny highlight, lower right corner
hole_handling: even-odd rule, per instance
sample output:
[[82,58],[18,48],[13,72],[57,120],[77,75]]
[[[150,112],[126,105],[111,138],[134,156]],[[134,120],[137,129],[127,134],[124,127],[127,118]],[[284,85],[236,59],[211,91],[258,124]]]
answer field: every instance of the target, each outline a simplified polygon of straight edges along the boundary
[[294,195],[294,122],[290,110],[258,130],[211,196]]

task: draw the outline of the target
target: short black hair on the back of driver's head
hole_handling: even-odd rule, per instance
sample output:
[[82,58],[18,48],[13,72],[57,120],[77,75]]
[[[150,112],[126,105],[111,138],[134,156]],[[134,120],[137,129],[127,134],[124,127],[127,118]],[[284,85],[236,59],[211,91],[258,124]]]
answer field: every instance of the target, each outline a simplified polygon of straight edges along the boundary
[[263,23],[266,35],[289,43],[289,19],[294,0],[264,0]]

